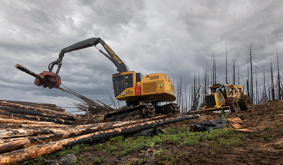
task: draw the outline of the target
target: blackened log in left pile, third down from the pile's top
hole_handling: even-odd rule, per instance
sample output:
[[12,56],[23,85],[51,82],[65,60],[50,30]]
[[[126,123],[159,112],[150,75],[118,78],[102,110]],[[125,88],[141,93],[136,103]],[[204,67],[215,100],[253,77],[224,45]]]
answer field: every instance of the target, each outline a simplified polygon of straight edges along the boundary
[[10,113],[18,113],[18,114],[26,114],[26,115],[34,115],[34,116],[43,116],[43,117],[52,117],[58,119],[65,119],[65,120],[73,120],[75,121],[74,116],[64,116],[61,114],[54,114],[49,112],[41,112],[41,111],[34,111],[34,110],[26,110],[26,109],[19,109],[19,108],[12,108],[12,107],[4,107],[0,106],[1,110],[10,112]]

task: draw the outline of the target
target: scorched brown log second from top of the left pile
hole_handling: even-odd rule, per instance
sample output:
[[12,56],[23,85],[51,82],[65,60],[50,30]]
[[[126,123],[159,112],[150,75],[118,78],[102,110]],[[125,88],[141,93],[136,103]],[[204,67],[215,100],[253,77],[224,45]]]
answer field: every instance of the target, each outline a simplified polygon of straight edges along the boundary
[[5,101],[0,102],[0,105],[1,106],[5,106],[5,107],[12,107],[12,108],[19,108],[19,109],[26,109],[26,110],[34,110],[34,111],[39,111],[39,112],[48,113],[48,114],[58,114],[58,115],[62,115],[62,116],[68,116],[71,120],[75,120],[75,115],[72,115],[72,114],[66,113],[66,112],[58,112],[58,111],[55,111],[55,110],[36,108],[36,107],[20,105],[20,104],[12,104],[12,103],[7,103]]

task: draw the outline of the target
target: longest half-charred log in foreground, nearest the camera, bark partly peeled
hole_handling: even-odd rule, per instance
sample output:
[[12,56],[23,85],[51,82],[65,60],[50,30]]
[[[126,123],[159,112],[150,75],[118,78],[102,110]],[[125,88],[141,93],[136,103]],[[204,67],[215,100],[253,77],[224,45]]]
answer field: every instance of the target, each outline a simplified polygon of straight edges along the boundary
[[63,148],[68,148],[76,146],[77,144],[91,144],[98,142],[103,139],[110,137],[115,137],[125,134],[133,134],[142,130],[151,129],[154,126],[159,127],[166,124],[171,124],[174,122],[180,122],[188,119],[198,118],[199,115],[192,116],[182,116],[176,118],[161,119],[157,121],[139,123],[135,125],[129,125],[121,128],[115,128],[107,131],[96,132],[92,134],[86,134],[81,136],[76,136],[64,140],[59,140],[56,142],[46,143],[37,146],[31,146],[26,149],[19,149],[16,151],[8,152],[0,155],[0,165],[4,164],[18,164],[23,161],[28,161],[30,159],[37,158],[40,156],[45,156],[55,152],[61,151]]

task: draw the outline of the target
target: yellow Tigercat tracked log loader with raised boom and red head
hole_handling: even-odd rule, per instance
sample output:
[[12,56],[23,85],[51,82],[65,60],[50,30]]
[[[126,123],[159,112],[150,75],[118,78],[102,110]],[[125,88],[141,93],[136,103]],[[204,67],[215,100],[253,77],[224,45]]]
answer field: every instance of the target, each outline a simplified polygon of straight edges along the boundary
[[[96,47],[99,43],[107,53]],[[141,73],[130,71],[126,64],[101,38],[89,38],[62,49],[57,61],[49,64],[49,71],[43,71],[39,74],[45,78],[45,81],[36,78],[35,85],[50,89],[58,88],[61,85],[61,77],[58,73],[62,66],[64,54],[91,46],[97,48],[117,67],[119,73],[112,75],[115,98],[119,101],[126,101],[128,106],[126,109],[107,113],[104,119],[110,121],[136,120],[154,116],[155,113],[180,113],[180,107],[175,103],[170,103],[175,101],[176,97],[174,85],[167,74],[154,73],[143,76]],[[54,65],[58,65],[56,73],[52,71]],[[158,105],[160,102],[169,102],[169,104]]]

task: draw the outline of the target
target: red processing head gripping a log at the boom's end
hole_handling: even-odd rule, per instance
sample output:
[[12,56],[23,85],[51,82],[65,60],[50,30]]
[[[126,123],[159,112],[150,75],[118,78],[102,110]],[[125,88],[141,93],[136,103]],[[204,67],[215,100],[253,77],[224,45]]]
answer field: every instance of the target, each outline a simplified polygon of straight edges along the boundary
[[37,86],[41,86],[43,88],[58,88],[61,85],[61,77],[59,75],[55,76],[54,73],[48,72],[48,71],[43,71],[42,73],[39,74],[39,76],[42,76],[45,78],[47,81],[40,80],[36,78],[34,80],[34,84]]

